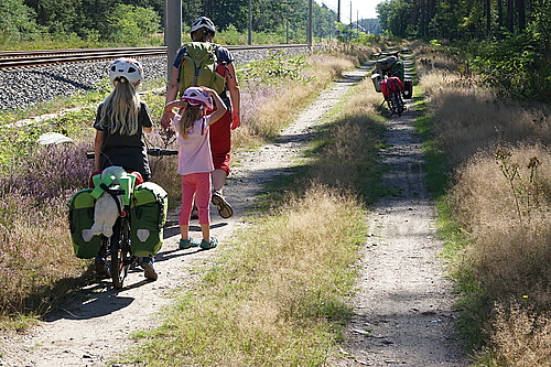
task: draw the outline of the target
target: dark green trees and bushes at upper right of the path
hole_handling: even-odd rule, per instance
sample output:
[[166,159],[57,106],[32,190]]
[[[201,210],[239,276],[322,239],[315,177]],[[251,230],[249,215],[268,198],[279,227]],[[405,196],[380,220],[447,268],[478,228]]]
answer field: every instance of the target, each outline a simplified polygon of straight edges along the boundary
[[387,0],[377,11],[389,34],[467,44],[466,58],[504,96],[550,100],[550,1]]

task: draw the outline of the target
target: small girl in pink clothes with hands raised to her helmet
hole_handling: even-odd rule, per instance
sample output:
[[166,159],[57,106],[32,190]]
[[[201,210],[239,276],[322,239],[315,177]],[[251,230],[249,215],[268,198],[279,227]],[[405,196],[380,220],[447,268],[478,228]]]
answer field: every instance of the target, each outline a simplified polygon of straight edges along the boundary
[[[217,109],[206,115],[214,106]],[[177,114],[174,114],[174,108],[180,109]],[[182,99],[171,101],[164,107],[164,111],[172,119],[179,142],[177,173],[182,175],[182,206],[179,218],[181,249],[195,246],[210,249],[218,245],[218,240],[210,236],[210,173],[214,165],[208,127],[223,117],[226,110],[226,105],[218,94],[206,87],[190,87],[182,95]],[[201,242],[190,237],[190,214],[194,197],[203,234]]]

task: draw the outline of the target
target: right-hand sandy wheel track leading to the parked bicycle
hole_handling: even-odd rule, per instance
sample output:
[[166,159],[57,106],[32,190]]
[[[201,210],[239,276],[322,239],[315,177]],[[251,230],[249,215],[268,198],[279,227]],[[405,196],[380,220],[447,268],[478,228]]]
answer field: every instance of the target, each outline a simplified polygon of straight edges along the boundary
[[[411,105],[411,104],[410,104]],[[334,366],[467,366],[453,337],[452,283],[437,258],[434,207],[425,186],[412,106],[388,121],[383,181],[395,192],[369,215],[355,317]]]

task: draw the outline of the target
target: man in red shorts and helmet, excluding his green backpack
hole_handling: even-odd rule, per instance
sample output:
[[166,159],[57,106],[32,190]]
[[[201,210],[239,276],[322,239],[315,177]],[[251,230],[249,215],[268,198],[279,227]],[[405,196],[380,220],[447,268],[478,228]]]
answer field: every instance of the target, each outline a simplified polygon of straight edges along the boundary
[[[229,175],[229,162],[231,150],[231,130],[240,126],[240,91],[237,83],[236,71],[234,67],[234,57],[229,51],[220,45],[213,44],[212,41],[216,34],[216,26],[213,21],[206,17],[199,17],[193,21],[191,26],[191,37],[193,42],[207,43],[214,45],[216,56],[216,71],[225,78],[225,88],[219,94],[222,100],[228,110],[220,120],[210,128],[210,150],[213,154],[214,171],[212,173],[213,194],[212,202],[218,208],[223,218],[229,218],[234,211],[223,195],[226,177]],[[188,86],[183,86],[180,82],[180,72],[187,54],[187,45],[183,45],[173,63],[170,85],[166,90],[166,104],[182,96]],[[193,85],[197,86],[197,85]],[[213,88],[210,85],[204,85]],[[229,93],[229,97],[228,97]],[[163,128],[170,127],[170,118],[166,114],[161,119]],[[194,215],[194,214],[192,214]]]

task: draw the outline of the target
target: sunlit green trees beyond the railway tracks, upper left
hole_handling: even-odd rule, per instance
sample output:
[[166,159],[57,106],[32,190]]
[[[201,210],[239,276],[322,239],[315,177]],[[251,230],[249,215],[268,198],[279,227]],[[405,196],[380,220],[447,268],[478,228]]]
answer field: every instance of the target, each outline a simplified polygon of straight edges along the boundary
[[[252,0],[253,32],[287,34],[293,42],[306,37],[309,0]],[[137,45],[164,28],[164,0],[2,0],[0,43],[41,36],[67,36],[95,43]],[[182,0],[183,30],[199,17],[213,19],[220,31],[247,33],[248,0]],[[313,34],[327,39],[336,33],[337,14],[313,3]]]

